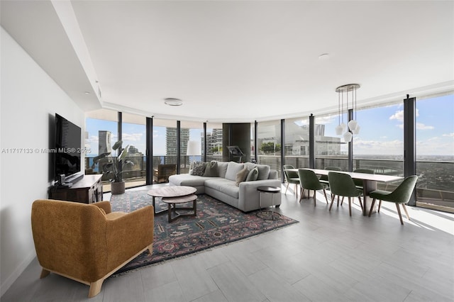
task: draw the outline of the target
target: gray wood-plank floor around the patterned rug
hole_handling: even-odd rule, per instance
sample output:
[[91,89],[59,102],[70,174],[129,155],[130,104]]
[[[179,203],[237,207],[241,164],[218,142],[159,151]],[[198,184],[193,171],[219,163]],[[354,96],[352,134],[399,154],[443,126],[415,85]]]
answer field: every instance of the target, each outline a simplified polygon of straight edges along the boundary
[[[143,188],[140,188],[143,189]],[[328,211],[323,193],[282,194],[280,213],[299,223],[89,286],[33,262],[6,301],[454,301],[454,214],[394,204],[362,216],[358,201]]]

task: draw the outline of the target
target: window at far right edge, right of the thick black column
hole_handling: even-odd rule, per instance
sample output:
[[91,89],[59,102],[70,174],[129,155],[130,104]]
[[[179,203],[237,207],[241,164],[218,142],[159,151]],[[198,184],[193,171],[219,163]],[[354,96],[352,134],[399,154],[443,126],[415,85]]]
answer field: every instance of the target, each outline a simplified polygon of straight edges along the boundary
[[416,201],[454,211],[454,94],[416,101]]

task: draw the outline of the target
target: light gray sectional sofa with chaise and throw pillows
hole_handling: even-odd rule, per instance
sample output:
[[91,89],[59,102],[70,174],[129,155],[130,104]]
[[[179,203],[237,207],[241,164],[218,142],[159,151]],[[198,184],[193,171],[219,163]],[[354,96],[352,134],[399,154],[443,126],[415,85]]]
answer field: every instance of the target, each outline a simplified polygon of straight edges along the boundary
[[[193,186],[197,189],[196,194],[207,194],[244,212],[260,208],[258,186],[281,187],[277,171],[270,169],[270,166],[266,164],[253,164],[251,162],[244,164],[210,162],[204,164],[206,165],[204,174],[172,175],[169,177],[170,186]],[[192,173],[195,170],[196,168],[192,170]],[[271,206],[271,203],[279,206],[281,199],[281,194],[273,194],[272,196],[272,194],[262,193],[262,208]]]

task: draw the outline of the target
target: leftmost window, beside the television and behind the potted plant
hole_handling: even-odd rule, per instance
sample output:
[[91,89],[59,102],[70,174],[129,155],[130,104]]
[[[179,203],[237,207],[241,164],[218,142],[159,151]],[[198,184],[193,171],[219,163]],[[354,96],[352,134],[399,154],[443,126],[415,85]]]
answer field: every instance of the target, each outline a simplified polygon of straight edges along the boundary
[[[103,171],[103,162],[94,164],[93,159],[99,154],[111,151],[112,145],[118,140],[118,112],[108,109],[90,111],[85,119],[85,147],[90,152],[85,155],[85,174],[103,174],[103,191],[111,191],[109,176]],[[113,157],[117,154],[111,152]]]

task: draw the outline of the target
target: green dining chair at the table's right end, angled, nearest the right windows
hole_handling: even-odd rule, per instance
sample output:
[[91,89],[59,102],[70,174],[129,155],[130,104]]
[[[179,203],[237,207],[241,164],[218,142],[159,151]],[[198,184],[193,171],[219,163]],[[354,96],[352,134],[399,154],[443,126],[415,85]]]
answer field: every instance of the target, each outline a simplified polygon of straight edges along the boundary
[[396,203],[397,213],[399,214],[400,224],[404,225],[404,220],[402,220],[402,214],[400,213],[399,203],[402,204],[402,208],[404,208],[406,218],[410,220],[409,212],[406,211],[405,203],[408,203],[411,198],[411,194],[413,194],[414,187],[416,186],[416,181],[418,177],[416,175],[411,175],[406,177],[404,181],[402,181],[399,186],[397,186],[394,191],[383,191],[383,190],[375,190],[369,193],[370,198],[372,199],[372,205],[370,206],[369,217],[372,214],[372,209],[375,206],[375,200],[379,200],[380,203],[378,204],[378,213],[380,213],[380,207],[382,206],[382,201],[389,201]]

